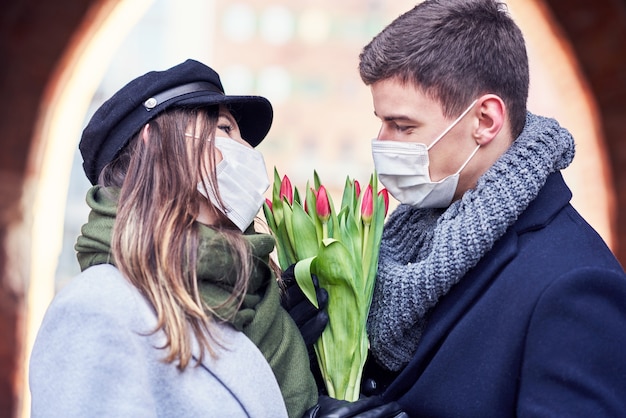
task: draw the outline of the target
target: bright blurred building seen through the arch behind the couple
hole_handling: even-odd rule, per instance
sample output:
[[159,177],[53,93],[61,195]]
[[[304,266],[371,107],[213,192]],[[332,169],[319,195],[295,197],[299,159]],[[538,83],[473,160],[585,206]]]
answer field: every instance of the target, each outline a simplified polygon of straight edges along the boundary
[[[347,175],[367,181],[373,171],[369,139],[378,125],[369,89],[358,76],[358,54],[385,23],[412,5],[406,0],[153,0],[112,51],[81,121],[84,126],[132,78],[194,58],[220,74],[226,93],[259,94],[272,102],[274,123],[259,146],[270,176],[276,167],[303,188],[317,170],[333,191],[343,187]],[[86,63],[94,64],[101,60]],[[61,135],[74,158],[57,289],[78,272],[73,245],[86,219],[89,187],[77,151],[80,132],[68,138],[63,127]]]

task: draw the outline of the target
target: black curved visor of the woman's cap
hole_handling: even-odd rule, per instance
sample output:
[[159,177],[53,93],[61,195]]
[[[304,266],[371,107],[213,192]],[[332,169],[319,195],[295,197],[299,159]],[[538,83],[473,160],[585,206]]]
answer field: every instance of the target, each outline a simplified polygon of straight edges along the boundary
[[274,116],[272,105],[261,96],[225,96],[219,93],[202,92],[179,97],[172,106],[224,105],[233,114],[241,136],[251,146],[263,141],[272,126]]

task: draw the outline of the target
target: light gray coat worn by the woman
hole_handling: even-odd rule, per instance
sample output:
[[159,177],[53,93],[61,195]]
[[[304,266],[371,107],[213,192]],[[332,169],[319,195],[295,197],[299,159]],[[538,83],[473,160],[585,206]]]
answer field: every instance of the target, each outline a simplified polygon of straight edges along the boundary
[[[257,347],[220,328],[217,359],[185,371],[162,361],[156,315],[111,265],[90,267],[46,312],[30,359],[32,417],[286,417]],[[194,354],[198,353],[195,344]]]

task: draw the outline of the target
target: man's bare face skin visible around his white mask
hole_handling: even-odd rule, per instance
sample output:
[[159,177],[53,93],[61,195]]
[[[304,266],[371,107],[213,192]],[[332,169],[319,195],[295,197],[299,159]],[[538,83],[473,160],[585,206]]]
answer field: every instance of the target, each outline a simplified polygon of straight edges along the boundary
[[[429,146],[455,118],[446,118],[441,105],[411,83],[396,78],[371,85],[374,114],[381,120],[381,141],[417,142]],[[432,181],[456,173],[472,151],[472,112],[429,150]]]

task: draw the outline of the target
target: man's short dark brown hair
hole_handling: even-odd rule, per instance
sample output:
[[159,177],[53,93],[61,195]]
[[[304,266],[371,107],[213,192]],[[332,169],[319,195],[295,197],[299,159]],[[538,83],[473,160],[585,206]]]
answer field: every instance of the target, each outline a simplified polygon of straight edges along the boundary
[[496,0],[427,0],[363,48],[366,85],[388,78],[412,83],[459,115],[482,94],[504,101],[516,138],[526,121],[528,56],[519,27]]

